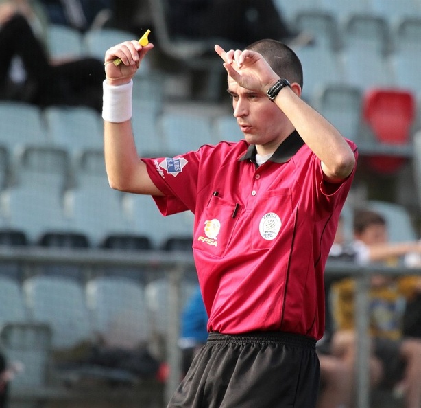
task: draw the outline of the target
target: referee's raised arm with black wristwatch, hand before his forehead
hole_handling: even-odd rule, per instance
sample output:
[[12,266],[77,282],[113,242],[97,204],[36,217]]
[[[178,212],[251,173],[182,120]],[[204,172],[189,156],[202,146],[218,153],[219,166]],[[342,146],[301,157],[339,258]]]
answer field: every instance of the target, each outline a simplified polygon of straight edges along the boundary
[[[241,87],[266,94],[280,77],[265,58],[257,52],[245,49],[230,50],[215,46],[215,51],[224,60],[228,75]],[[297,83],[283,88],[274,103],[285,113],[304,142],[322,161],[322,170],[328,181],[341,181],[348,177],[355,157],[341,133],[300,98],[301,87]]]

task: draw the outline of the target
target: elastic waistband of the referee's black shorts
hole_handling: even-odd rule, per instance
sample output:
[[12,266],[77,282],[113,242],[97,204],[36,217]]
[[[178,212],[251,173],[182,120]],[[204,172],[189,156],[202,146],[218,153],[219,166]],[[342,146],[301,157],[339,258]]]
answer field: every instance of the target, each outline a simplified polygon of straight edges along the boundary
[[208,343],[272,343],[298,345],[314,350],[316,345],[316,341],[312,337],[287,332],[250,332],[241,335],[223,335],[219,332],[210,332]]

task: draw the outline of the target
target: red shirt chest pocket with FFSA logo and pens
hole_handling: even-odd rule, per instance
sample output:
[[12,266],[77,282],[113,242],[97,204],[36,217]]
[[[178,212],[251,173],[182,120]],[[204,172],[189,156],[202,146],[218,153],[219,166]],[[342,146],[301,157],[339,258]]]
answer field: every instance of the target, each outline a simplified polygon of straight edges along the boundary
[[224,256],[240,212],[240,205],[211,196],[195,229],[193,248],[217,258]]

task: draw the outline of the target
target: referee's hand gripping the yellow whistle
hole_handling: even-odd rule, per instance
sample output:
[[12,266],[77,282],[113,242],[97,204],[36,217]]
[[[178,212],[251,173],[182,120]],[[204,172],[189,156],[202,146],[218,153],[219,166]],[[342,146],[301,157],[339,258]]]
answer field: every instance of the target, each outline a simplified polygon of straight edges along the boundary
[[[141,60],[143,60],[147,52],[153,47],[154,45],[152,43],[142,47],[138,41],[132,40],[125,41],[108,49],[104,60],[108,84],[122,85],[130,82],[139,69]],[[117,66],[113,63],[116,58],[120,58],[122,61]]]

